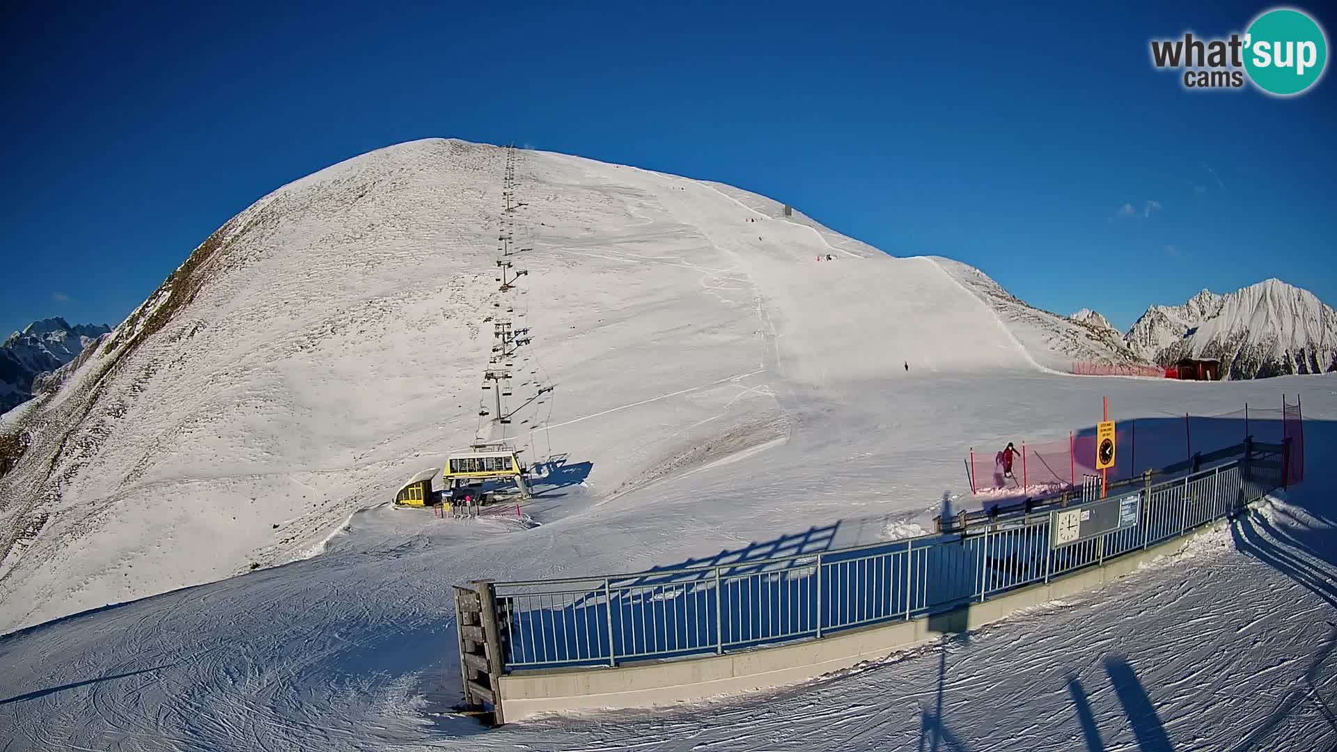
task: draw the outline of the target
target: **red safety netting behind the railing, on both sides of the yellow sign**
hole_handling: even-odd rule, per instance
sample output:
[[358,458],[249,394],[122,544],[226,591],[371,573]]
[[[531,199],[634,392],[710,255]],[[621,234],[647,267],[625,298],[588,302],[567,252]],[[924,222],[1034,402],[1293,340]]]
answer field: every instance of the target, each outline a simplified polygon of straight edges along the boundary
[[[1221,415],[1166,415],[1138,417],[1115,423],[1114,467],[1110,482],[1159,470],[1194,454],[1209,454],[1241,443],[1246,436],[1255,442],[1280,444],[1290,439],[1292,454],[1288,480],[1300,483],[1305,476],[1305,427],[1300,400],[1282,407],[1243,409]],[[1007,446],[1007,442],[999,442]],[[1070,431],[1058,442],[1016,442],[1021,452],[1012,463],[1013,478],[1005,478],[996,450],[971,450],[967,466],[971,491],[975,494],[1043,495],[1080,486],[1082,476],[1095,474],[1095,427]]]

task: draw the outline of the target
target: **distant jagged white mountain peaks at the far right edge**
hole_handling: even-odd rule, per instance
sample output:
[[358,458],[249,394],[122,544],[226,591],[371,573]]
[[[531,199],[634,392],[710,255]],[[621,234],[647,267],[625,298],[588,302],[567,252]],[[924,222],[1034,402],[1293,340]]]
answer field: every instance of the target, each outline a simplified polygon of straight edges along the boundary
[[1127,343],[1162,365],[1218,359],[1227,379],[1322,373],[1337,369],[1337,312],[1309,290],[1265,280],[1227,294],[1202,290],[1183,305],[1152,305]]

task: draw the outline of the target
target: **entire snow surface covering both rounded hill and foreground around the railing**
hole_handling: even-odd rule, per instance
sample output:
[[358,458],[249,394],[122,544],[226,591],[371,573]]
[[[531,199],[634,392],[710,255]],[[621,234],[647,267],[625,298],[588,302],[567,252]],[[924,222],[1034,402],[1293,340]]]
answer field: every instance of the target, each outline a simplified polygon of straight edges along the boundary
[[[523,153],[516,396],[555,389],[509,431],[563,464],[536,527],[382,506],[479,428],[501,171],[500,150],[420,142],[266,197],[102,387],[59,496],[35,443],[0,487],[51,515],[0,581],[0,629],[27,626],[0,637],[0,749],[1337,743],[1337,377],[1056,375],[941,262],[735,189]],[[23,420],[74,431],[80,379]],[[1066,438],[1106,395],[1174,420],[1281,392],[1304,393],[1312,480],[1104,590],[778,693],[495,731],[449,712],[455,582],[885,539],[972,503],[967,446]],[[277,566],[227,577],[249,562]]]

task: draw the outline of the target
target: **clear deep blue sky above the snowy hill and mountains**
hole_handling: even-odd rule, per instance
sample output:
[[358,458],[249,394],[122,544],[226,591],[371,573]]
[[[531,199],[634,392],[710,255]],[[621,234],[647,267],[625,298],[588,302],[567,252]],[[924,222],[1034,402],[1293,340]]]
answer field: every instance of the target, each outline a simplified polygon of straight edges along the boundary
[[424,136],[729,182],[1118,326],[1266,277],[1337,302],[1337,79],[1150,64],[1269,4],[281,5],[8,11],[0,331],[115,325],[265,193]]

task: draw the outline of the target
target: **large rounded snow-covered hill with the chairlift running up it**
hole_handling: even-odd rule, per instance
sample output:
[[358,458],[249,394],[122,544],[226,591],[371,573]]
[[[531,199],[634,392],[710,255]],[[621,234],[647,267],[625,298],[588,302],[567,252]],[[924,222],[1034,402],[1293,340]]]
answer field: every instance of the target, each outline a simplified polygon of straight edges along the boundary
[[[825,426],[858,399],[813,400],[844,389],[1034,373],[1071,359],[1051,344],[1107,348],[979,270],[886,256],[738,189],[525,151],[523,206],[503,213],[504,159],[422,140],[275,190],[7,424],[0,630],[291,561],[479,438],[580,458],[582,492],[622,498]],[[503,304],[511,231],[531,274]],[[503,427],[479,415],[496,317],[533,337]],[[886,409],[840,431],[880,436],[906,408]],[[805,440],[769,483],[893,438]],[[628,566],[620,551],[604,563]]]

